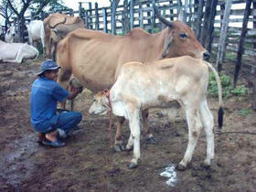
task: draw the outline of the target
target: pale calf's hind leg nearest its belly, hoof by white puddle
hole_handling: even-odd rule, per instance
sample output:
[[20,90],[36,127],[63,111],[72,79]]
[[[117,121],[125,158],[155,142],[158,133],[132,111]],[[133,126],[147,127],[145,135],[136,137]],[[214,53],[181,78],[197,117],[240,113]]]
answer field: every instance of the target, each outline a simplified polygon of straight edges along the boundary
[[200,120],[199,112],[195,109],[186,109],[187,126],[188,126],[188,144],[186,153],[182,161],[177,165],[178,170],[185,170],[187,164],[190,163],[195,147],[197,145],[197,139],[202,129],[202,123]]

